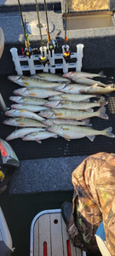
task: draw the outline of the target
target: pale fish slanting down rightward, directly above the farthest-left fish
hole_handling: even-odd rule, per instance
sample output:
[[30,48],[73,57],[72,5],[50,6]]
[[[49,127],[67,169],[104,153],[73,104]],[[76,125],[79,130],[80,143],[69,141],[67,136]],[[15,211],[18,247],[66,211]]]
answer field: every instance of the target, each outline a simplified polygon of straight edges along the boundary
[[39,116],[37,113],[33,113],[31,111],[28,111],[26,109],[11,109],[9,111],[6,111],[4,113],[5,115],[11,116],[11,117],[21,117],[21,118],[28,118],[28,119],[36,119],[38,121],[42,121],[43,118]]

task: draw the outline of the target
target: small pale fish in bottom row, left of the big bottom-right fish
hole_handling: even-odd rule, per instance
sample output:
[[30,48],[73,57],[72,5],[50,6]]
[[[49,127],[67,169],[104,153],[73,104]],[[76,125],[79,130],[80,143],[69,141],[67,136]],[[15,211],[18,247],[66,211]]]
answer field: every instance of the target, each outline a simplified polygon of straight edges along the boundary
[[38,131],[38,132],[32,132],[31,134],[26,135],[26,137],[23,137],[23,141],[36,141],[37,143],[42,143],[41,140],[47,139],[49,137],[55,137],[57,138],[57,134],[50,131]]

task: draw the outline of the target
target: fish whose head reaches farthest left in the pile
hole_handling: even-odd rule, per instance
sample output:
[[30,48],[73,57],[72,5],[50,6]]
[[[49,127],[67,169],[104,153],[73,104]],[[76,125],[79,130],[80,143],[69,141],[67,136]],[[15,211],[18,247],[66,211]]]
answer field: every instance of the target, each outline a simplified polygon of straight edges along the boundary
[[27,118],[6,119],[3,121],[3,125],[13,125],[19,127],[47,127],[47,125],[43,125],[40,121]]

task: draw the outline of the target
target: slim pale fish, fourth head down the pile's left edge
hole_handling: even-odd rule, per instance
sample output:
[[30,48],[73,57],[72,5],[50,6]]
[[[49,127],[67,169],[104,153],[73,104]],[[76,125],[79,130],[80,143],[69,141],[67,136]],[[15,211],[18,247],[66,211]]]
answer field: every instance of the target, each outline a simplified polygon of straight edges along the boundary
[[10,108],[14,108],[14,109],[26,109],[28,111],[32,111],[32,112],[39,112],[41,110],[44,109],[49,109],[46,108],[44,106],[39,106],[39,105],[27,105],[27,104],[12,104],[10,106]]

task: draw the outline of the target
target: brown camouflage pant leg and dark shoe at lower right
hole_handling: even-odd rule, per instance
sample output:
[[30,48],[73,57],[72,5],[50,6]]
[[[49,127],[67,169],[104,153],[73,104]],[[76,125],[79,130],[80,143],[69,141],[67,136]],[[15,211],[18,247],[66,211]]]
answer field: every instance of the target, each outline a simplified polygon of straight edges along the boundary
[[103,220],[106,246],[115,255],[115,154],[90,155],[72,172],[74,195],[67,235],[76,247],[98,253],[95,232]]

